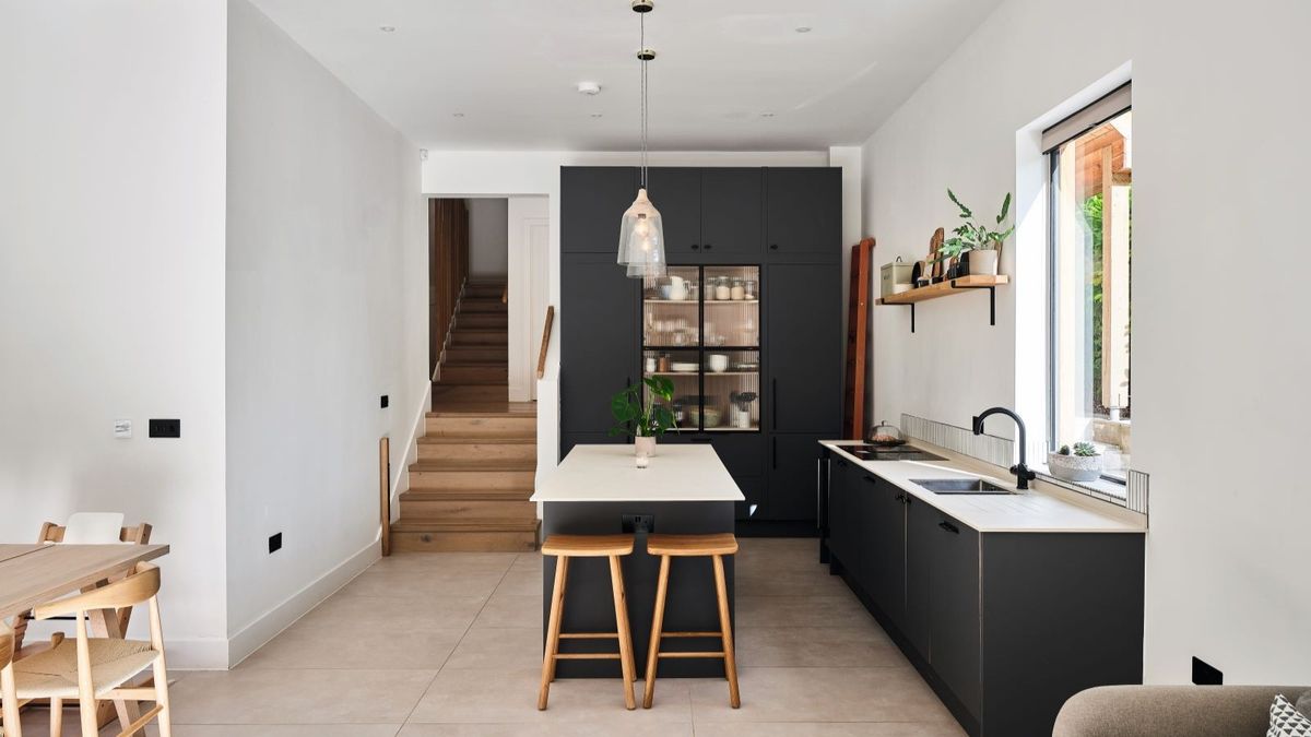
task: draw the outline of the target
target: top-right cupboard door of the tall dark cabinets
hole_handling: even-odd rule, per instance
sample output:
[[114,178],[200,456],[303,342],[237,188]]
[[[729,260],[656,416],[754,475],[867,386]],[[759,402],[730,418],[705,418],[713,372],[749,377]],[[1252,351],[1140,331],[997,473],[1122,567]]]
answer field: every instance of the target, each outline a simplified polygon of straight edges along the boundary
[[806,256],[839,261],[842,169],[766,169],[768,257]]

